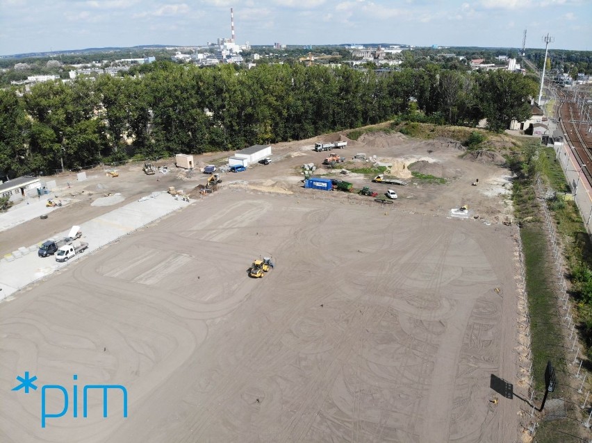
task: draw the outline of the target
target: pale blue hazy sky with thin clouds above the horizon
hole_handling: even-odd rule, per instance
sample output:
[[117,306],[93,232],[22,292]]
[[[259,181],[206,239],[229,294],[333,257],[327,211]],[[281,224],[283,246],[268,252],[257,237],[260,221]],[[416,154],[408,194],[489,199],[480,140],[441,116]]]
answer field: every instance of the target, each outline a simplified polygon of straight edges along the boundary
[[142,44],[401,43],[592,50],[592,0],[0,0],[0,55]]

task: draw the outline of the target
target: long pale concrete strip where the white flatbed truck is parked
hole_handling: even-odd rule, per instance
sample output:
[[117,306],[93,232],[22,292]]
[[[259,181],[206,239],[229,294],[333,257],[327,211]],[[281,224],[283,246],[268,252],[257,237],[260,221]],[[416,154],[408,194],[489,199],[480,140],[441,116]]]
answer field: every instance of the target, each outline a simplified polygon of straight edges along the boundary
[[[165,193],[150,197],[142,201],[134,201],[81,224],[81,230],[84,233],[81,240],[88,242],[88,249],[81,254],[81,257],[170,212],[185,208],[191,203],[191,201],[188,203],[181,199],[174,199]],[[67,234],[68,231],[64,231],[55,237],[65,237]],[[29,250],[31,249],[35,251],[36,248],[31,246]],[[15,260],[15,258],[19,258],[19,260]],[[23,255],[21,251],[14,251],[0,262],[0,300],[39,278],[48,276],[69,265],[78,258],[74,257],[68,262],[59,263],[53,256],[40,258],[37,253]]]

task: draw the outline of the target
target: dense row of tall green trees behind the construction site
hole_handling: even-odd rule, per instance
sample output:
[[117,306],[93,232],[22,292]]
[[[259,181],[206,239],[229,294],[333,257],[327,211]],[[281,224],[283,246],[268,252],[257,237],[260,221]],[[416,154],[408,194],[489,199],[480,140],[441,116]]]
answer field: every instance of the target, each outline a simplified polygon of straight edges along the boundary
[[0,175],[50,174],[133,156],[241,149],[383,122],[417,109],[438,123],[493,130],[529,116],[536,85],[506,71],[156,62],[142,76],[0,91]]

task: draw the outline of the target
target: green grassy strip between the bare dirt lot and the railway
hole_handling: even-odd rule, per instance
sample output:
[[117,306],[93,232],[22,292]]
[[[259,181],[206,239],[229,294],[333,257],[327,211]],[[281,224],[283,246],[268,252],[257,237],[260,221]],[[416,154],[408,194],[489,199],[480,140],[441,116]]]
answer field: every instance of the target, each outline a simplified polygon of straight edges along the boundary
[[[534,192],[534,177],[540,174],[546,185],[554,190],[565,190],[565,179],[562,178],[560,165],[554,161],[552,149],[538,147],[525,142],[523,149],[516,156],[508,158],[508,164],[516,173],[513,183],[513,206],[516,219],[520,222],[520,237],[523,243],[525,258],[526,289],[530,313],[530,332],[533,360],[534,387],[536,390],[536,406],[540,405],[544,390],[544,369],[551,360],[557,371],[557,387],[549,394],[549,399],[565,399],[566,414],[569,418],[553,421],[539,421],[536,430],[537,442],[580,442],[584,431],[582,411],[577,405],[582,399],[573,391],[569,381],[568,362],[573,360],[569,347],[564,347],[565,330],[561,327],[561,314],[557,313],[557,294],[553,278],[557,275],[554,260],[550,252],[550,244],[545,224],[541,220],[541,208],[538,206]],[[577,208],[573,201],[566,201],[564,194],[558,192],[556,197],[548,201],[548,206],[557,222],[558,231],[564,242],[568,267],[573,269],[573,278],[590,277],[592,271],[586,271],[583,258],[589,256],[589,236],[584,231]],[[586,252],[588,251],[588,252]],[[578,264],[576,266],[576,264]],[[578,303],[576,324],[584,341],[590,344],[586,336],[592,334],[587,328],[592,326],[592,310],[588,303]],[[583,353],[583,351],[582,351]],[[580,354],[581,355],[581,354]],[[584,365],[585,367],[585,365]]]

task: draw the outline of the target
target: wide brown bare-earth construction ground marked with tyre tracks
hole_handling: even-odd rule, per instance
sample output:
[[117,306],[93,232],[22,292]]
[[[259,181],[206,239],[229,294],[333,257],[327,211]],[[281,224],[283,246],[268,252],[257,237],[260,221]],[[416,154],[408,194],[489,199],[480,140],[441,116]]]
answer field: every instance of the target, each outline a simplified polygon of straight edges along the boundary
[[[206,174],[170,161],[167,174],[126,165],[113,178],[56,176],[49,197],[63,206],[7,225],[3,256],[169,186],[190,202],[3,299],[0,441],[517,441],[520,401],[490,387],[520,375],[503,160],[454,140],[368,133],[325,169],[327,153],[312,148],[331,137],[347,140],[274,145],[270,165],[222,174],[211,194],[196,190]],[[361,152],[372,162],[352,160]],[[340,173],[374,156],[408,185]],[[306,163],[398,199],[304,189]],[[273,269],[249,277],[263,257]],[[54,388],[13,390],[25,371]],[[127,398],[109,392],[104,418],[106,390],[83,408],[88,385],[122,385]]]

